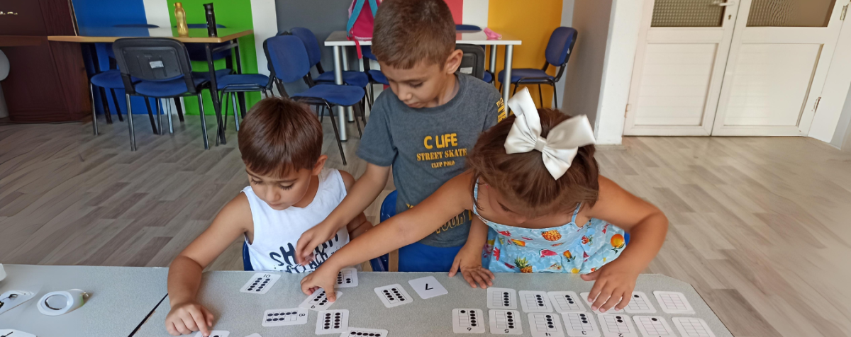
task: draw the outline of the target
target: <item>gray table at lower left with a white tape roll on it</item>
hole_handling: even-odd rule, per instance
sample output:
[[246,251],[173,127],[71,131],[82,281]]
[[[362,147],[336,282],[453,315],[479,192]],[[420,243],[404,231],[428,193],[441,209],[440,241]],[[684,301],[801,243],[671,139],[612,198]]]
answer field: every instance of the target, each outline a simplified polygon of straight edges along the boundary
[[[3,265],[9,275],[0,293],[26,290],[31,300],[0,314],[0,329],[38,337],[125,337],[163,300],[168,268]],[[61,316],[38,312],[37,301],[51,291],[83,289],[86,303]]]

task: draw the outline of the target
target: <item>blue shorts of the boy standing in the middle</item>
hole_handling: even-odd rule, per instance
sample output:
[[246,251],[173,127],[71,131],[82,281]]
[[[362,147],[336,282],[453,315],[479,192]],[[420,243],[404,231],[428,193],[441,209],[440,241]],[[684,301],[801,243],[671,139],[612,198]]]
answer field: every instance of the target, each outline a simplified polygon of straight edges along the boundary
[[432,247],[427,244],[408,244],[399,249],[399,272],[449,272],[452,261],[464,245]]

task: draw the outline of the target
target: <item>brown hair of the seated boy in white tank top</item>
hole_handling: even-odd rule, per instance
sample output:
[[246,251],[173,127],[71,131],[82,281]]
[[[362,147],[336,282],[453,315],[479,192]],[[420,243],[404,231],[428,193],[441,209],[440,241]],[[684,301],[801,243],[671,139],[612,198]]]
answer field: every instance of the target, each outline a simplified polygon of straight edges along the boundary
[[285,177],[312,170],[322,154],[322,124],[305,105],[288,98],[254,104],[239,129],[239,152],[248,170]]

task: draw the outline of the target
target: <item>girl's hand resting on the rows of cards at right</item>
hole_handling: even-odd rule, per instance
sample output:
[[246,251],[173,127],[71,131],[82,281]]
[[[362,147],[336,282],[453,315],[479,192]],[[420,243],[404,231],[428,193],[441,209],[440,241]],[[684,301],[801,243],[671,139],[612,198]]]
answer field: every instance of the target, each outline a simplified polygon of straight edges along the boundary
[[613,306],[615,310],[620,310],[630,304],[632,289],[635,289],[636,279],[641,271],[617,262],[618,260],[611,261],[595,272],[580,276],[585,281],[596,280],[588,294],[591,311],[600,309],[600,312],[607,312]]

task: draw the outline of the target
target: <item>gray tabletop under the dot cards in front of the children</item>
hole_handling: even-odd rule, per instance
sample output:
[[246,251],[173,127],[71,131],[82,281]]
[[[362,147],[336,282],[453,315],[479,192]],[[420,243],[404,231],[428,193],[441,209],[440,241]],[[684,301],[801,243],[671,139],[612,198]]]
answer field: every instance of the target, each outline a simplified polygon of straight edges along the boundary
[[[266,328],[260,325],[263,312],[268,309],[284,309],[299,306],[306,295],[301,293],[301,275],[284,273],[266,295],[245,294],[240,287],[248,281],[253,272],[205,272],[199,297],[203,306],[214,312],[214,329],[230,331],[231,337],[243,337],[259,333],[263,337],[273,336],[312,336],[315,335],[317,312],[310,312],[307,323],[284,327]],[[408,280],[434,276],[448,289],[448,295],[422,300],[408,284]],[[452,309],[480,308],[487,315],[485,302],[486,290],[472,289],[460,275],[448,278],[445,273],[429,272],[360,272],[356,288],[339,289],[343,295],[328,309],[348,309],[349,326],[368,329],[386,329],[391,337],[399,336],[446,336],[452,332]],[[402,284],[414,297],[414,302],[395,308],[386,308],[374,288]],[[565,274],[497,274],[494,286],[519,290],[573,290],[576,293],[591,289],[591,283],[582,281],[577,275]],[[655,300],[654,290],[683,292],[694,306],[696,315],[676,315],[681,317],[700,317],[709,323],[717,337],[730,336],[718,317],[694,291],[691,285],[663,275],[646,274],[638,278],[636,290],[643,291],[656,307],[657,313],[651,316],[663,316],[671,329],[676,331],[670,314],[661,311]],[[164,320],[168,314],[168,300],[157,307],[151,318],[144,323],[134,337],[168,336]],[[528,319],[518,305],[523,320],[523,335],[529,333]],[[630,315],[631,316],[631,315]],[[487,322],[487,320],[483,320]],[[487,324],[487,323],[485,323]],[[488,331],[485,334],[489,334]],[[327,334],[336,337],[339,334]]]

